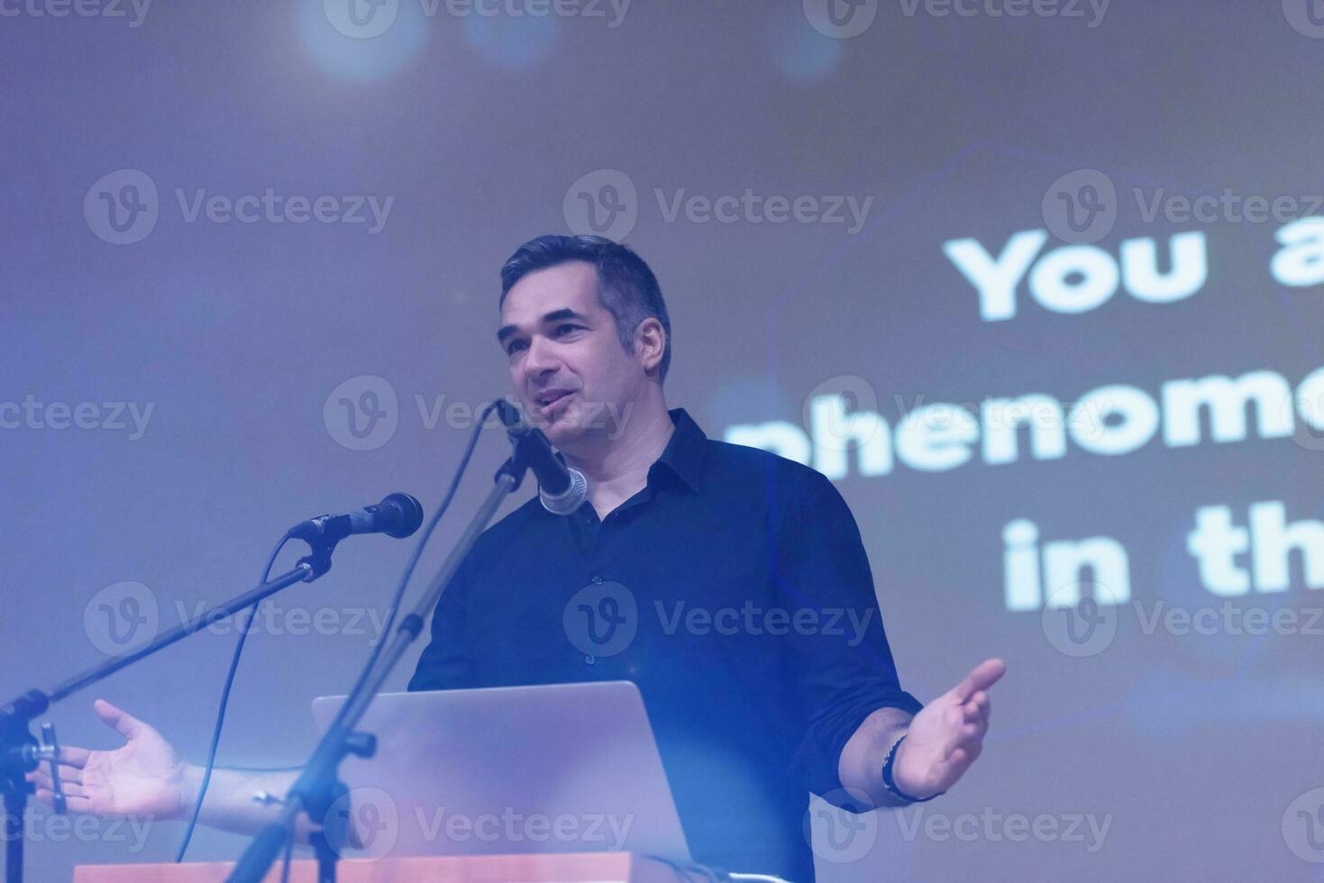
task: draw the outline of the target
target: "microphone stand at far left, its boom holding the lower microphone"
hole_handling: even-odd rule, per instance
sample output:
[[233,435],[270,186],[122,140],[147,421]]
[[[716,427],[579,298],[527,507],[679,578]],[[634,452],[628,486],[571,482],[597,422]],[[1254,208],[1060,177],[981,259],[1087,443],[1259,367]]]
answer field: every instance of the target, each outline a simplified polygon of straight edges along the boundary
[[298,564],[275,579],[267,580],[244,594],[207,610],[189,622],[180,622],[169,631],[159,634],[140,650],[115,659],[107,659],[50,690],[29,690],[17,699],[0,706],[0,793],[4,796],[5,812],[4,879],[7,883],[21,883],[23,880],[24,813],[28,808],[28,796],[33,792],[32,784],[25,778],[25,773],[36,769],[42,760],[49,760],[52,765],[50,777],[54,780],[56,786],[56,812],[64,812],[64,793],[60,790],[60,777],[56,769],[56,765],[60,763],[60,744],[56,741],[54,727],[44,724],[44,739],[38,743],[28,729],[32,721],[68,695],[105,680],[120,669],[128,667],[176,641],[205,629],[213,622],[238,613],[289,585],[301,581],[311,582],[318,579],[331,569],[331,552],[335,549],[336,540],[314,537],[307,541],[312,552],[299,559]]

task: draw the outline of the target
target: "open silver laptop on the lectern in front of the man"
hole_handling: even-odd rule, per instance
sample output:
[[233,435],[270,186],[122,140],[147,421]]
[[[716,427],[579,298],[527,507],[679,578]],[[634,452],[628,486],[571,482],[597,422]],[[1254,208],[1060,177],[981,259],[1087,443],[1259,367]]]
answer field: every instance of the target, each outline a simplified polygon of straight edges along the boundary
[[[344,696],[312,700],[326,732]],[[380,694],[326,822],[344,858],[625,851],[688,862],[638,687],[628,680]],[[334,837],[334,834],[332,834]],[[334,837],[334,839],[340,839]]]

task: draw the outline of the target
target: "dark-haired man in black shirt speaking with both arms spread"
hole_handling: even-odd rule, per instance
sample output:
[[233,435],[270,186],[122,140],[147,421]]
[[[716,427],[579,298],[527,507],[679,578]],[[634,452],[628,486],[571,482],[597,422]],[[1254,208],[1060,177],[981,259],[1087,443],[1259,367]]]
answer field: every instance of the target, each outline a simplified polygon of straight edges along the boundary
[[[634,682],[695,860],[730,871],[813,880],[810,793],[865,812],[951,788],[980,753],[1002,661],[928,706],[902,690],[831,482],[667,408],[670,318],[634,252],[544,236],[500,277],[511,388],[588,503],[560,516],[535,495],[483,532],[409,688]],[[66,749],[70,809],[181,815],[197,768],[126,712],[97,714],[127,744]],[[49,802],[45,769],[34,780]],[[291,781],[217,770],[203,821],[254,830],[271,812],[254,790]]]

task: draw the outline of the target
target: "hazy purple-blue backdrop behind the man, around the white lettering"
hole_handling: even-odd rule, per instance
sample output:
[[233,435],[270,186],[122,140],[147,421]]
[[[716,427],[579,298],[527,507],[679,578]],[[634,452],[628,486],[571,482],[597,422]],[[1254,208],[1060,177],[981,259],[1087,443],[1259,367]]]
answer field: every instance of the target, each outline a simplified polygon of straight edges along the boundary
[[[7,7],[15,9],[19,7]],[[23,9],[23,8],[19,8]],[[565,232],[563,197],[601,168],[641,197],[628,237],[657,271],[674,326],[667,400],[712,437],[739,422],[801,422],[822,381],[854,375],[884,413],[906,402],[1042,391],[1071,400],[1110,383],[1266,368],[1295,384],[1324,365],[1319,289],[1268,273],[1275,224],[1141,224],[1102,242],[1204,229],[1207,285],[1174,304],[1125,294],[1083,315],[1021,293],[1016,320],[980,320],[941,252],[997,249],[1043,226],[1058,176],[1094,167],[1119,191],[1324,192],[1324,40],[1278,3],[1117,0],[1083,20],[956,16],[880,4],[851,40],[812,29],[798,0],[663,4],[601,19],[400,19],[377,40],[332,30],[320,3],[154,4],[130,17],[0,19],[0,400],[154,402],[143,438],[105,430],[0,433],[8,488],[0,694],[50,686],[102,659],[82,627],[103,586],[152,589],[163,622],[249,585],[289,524],[395,490],[429,511],[467,430],[424,428],[414,395],[470,405],[507,392],[496,269],[526,238]],[[140,169],[160,189],[142,242],[91,233],[83,197]],[[173,189],[232,197],[395,197],[385,228],[188,224]],[[866,229],[666,222],[653,188],[687,193],[874,197]],[[400,396],[384,446],[352,451],[322,420],[347,377]],[[894,414],[888,414],[890,417]],[[506,451],[486,433],[455,512],[471,510]],[[1071,449],[838,483],[859,523],[904,686],[924,700],[1002,655],[985,755],[929,813],[1112,814],[1084,843],[907,842],[888,814],[831,882],[875,879],[1321,879],[1280,822],[1324,785],[1320,639],[1139,634],[1072,659],[1038,614],[1002,604],[1001,528],[1046,539],[1104,534],[1131,555],[1132,597],[1217,602],[1185,532],[1200,506],[1284,500],[1321,518],[1321,459],[1251,438],[1127,457]],[[516,500],[527,499],[528,485]],[[444,524],[422,573],[459,520]],[[408,556],[381,537],[346,544],[335,571],[286,606],[387,604]],[[1299,561],[1274,604],[1319,606]],[[1253,602],[1254,598],[1247,600]],[[106,747],[94,695],[156,724],[197,760],[232,637],[197,637],[50,719],[70,744]],[[421,649],[421,647],[420,647]],[[342,692],[363,635],[254,635],[222,763],[298,763],[308,702]],[[416,653],[391,680],[402,688]],[[75,863],[169,860],[181,826],[127,855],[110,842],[29,847],[34,880]],[[200,830],[191,858],[236,857],[244,838]],[[755,868],[751,868],[755,870]]]

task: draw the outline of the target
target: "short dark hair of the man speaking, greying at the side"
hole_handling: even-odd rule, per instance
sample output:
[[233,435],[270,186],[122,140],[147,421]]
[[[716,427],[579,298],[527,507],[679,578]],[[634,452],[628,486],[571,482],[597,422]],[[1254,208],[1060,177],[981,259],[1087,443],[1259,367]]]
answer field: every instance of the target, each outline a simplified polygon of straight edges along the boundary
[[658,379],[666,380],[671,364],[671,318],[662,301],[662,289],[643,258],[618,242],[601,236],[539,236],[524,242],[502,265],[498,308],[526,274],[568,261],[585,261],[597,270],[598,306],[616,319],[616,336],[626,355],[634,355],[634,330],[645,319],[657,316],[666,331]]

